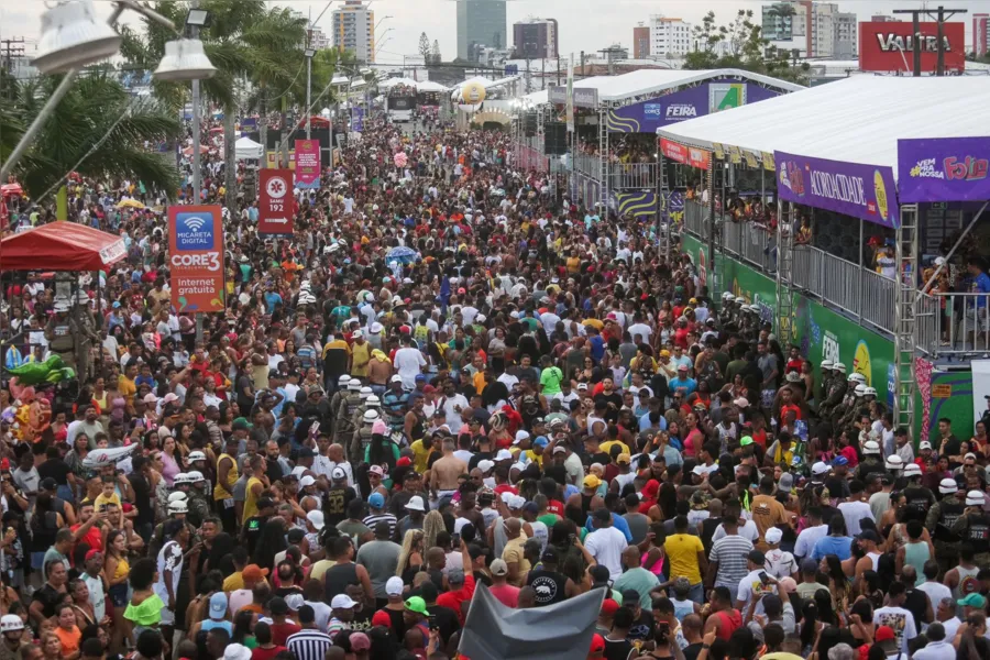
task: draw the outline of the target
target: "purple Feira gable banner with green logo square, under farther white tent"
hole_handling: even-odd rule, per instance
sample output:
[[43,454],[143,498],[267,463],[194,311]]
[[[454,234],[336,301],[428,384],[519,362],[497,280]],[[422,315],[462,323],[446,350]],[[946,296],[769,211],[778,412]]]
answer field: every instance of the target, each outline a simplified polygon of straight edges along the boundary
[[608,112],[613,133],[654,133],[679,121],[765,101],[780,92],[738,80],[712,80]]

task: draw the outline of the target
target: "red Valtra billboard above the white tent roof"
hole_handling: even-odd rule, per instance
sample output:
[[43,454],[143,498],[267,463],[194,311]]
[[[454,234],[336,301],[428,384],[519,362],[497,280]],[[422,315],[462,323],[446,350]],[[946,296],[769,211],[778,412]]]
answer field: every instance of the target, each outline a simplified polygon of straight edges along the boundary
[[[914,40],[910,21],[859,24],[859,68],[865,72],[911,72]],[[919,23],[922,72],[935,73],[938,59],[938,24]],[[945,70],[966,68],[965,23],[943,24]]]

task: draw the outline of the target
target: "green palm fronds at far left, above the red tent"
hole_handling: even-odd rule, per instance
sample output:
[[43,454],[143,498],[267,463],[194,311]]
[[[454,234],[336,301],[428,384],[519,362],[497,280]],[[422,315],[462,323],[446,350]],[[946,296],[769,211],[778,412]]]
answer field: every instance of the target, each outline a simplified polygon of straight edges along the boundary
[[[21,84],[0,100],[4,145],[20,139],[59,81],[58,76],[46,76]],[[56,106],[15,173],[35,198],[72,170],[97,180],[133,177],[172,194],[179,183],[175,163],[145,144],[174,140],[180,130],[174,113],[161,103],[134,100],[108,67],[91,68]]]

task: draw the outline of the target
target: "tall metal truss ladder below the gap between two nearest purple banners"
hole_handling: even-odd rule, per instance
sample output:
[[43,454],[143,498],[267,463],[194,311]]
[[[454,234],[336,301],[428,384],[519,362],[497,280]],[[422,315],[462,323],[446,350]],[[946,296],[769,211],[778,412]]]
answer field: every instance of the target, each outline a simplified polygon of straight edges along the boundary
[[914,346],[917,339],[917,205],[901,207],[895,230],[898,274],[894,294],[894,422],[914,437]]

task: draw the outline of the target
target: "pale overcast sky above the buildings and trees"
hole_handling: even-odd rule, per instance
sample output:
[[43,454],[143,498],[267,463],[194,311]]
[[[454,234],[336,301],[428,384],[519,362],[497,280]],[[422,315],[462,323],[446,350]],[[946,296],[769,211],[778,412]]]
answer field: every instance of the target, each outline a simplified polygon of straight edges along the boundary
[[[557,19],[560,25],[560,53],[564,57],[575,56],[582,50],[598,51],[614,43],[631,50],[632,28],[639,21],[647,21],[651,14],[680,18],[700,23],[710,10],[716,21],[728,23],[740,9],[750,9],[759,20],[762,0],[509,0],[507,3],[507,29],[512,41],[512,25],[515,21],[529,16]],[[842,11],[856,12],[859,20],[869,20],[872,14],[890,14],[893,9],[935,8],[937,2],[919,0],[838,0]],[[37,38],[41,31],[41,14],[44,0],[0,0],[0,38],[24,37],[29,42]],[[327,7],[326,0],[280,0],[274,6],[292,7],[316,19]],[[330,3],[322,19],[317,23],[329,32],[330,12],[340,0]],[[954,21],[965,21],[966,42],[971,43],[971,20],[975,12],[990,11],[990,0],[944,0],[946,7],[967,9],[970,14],[957,15]],[[96,0],[100,15],[109,15],[112,4],[109,0]],[[404,55],[419,52],[419,35],[426,32],[430,38],[439,41],[440,52],[446,61],[457,55],[457,6],[453,0],[373,0],[375,20],[392,16],[381,22],[376,34],[381,51],[378,63],[402,63]],[[310,13],[311,12],[311,13]],[[125,14],[127,15],[127,14]],[[128,22],[136,22],[134,14]],[[910,16],[905,16],[910,19]],[[385,33],[386,30],[391,32]],[[384,44],[381,40],[387,40]],[[33,44],[28,44],[30,55]]]

